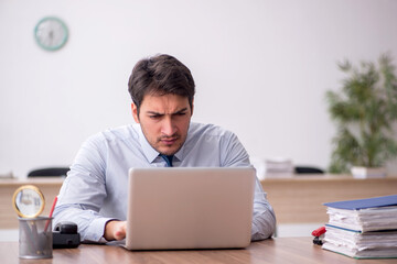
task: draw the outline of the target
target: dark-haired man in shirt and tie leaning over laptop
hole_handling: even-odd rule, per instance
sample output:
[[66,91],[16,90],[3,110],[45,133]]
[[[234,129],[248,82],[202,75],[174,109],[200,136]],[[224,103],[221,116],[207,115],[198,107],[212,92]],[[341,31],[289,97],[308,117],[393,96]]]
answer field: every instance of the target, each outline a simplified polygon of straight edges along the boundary
[[[232,132],[191,122],[195,85],[176,58],[158,55],[138,62],[128,90],[137,123],[89,138],[60,191],[54,224],[77,223],[83,241],[125,239],[130,167],[251,166]],[[257,180],[251,239],[271,237],[275,226],[275,213]]]

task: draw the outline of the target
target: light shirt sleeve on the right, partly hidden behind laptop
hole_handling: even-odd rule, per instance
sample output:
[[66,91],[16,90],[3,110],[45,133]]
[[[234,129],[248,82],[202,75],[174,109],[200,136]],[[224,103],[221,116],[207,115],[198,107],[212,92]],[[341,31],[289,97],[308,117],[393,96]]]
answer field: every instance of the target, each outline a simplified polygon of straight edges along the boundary
[[[224,167],[251,167],[249,156],[237,136],[230,133],[224,139],[223,150],[225,156],[222,157]],[[251,241],[270,238],[276,230],[276,216],[272,207],[267,200],[267,195],[262,190],[261,184],[256,178],[254,195],[254,213],[251,227]]]

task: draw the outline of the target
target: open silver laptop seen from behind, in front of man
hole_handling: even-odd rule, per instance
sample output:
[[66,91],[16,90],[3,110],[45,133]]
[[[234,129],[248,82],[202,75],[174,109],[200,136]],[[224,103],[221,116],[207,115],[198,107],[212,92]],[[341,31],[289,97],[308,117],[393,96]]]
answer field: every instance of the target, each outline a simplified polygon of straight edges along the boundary
[[125,248],[248,246],[255,182],[254,168],[131,168]]

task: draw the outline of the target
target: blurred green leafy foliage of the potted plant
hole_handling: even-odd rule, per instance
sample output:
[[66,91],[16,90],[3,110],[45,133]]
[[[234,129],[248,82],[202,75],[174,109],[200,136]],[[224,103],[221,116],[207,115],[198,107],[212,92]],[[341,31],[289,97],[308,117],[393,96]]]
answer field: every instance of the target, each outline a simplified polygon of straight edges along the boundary
[[378,64],[347,59],[339,68],[347,75],[341,92],[328,91],[331,118],[337,125],[333,139],[330,173],[345,173],[352,166],[378,167],[397,156],[397,77],[391,57]]

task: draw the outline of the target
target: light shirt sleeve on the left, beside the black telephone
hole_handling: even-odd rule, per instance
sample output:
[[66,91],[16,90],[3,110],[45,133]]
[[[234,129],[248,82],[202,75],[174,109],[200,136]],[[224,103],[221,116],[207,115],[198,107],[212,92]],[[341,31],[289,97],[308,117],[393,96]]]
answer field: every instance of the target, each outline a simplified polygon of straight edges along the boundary
[[[105,146],[97,138],[83,144],[62,185],[53,217],[55,227],[61,221],[77,224],[82,241],[104,242],[105,224],[99,209],[106,198]],[[105,241],[106,242],[106,241]]]

